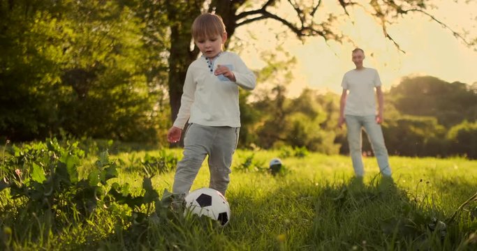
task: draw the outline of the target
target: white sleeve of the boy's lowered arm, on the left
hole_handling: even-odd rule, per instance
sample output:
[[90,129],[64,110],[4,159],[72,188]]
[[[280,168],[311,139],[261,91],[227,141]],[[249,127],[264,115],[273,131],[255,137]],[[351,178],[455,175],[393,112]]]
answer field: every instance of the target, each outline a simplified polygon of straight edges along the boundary
[[196,83],[193,82],[191,67],[187,69],[186,80],[184,81],[184,89],[182,91],[181,106],[177,112],[177,119],[174,125],[177,128],[184,129],[184,125],[191,116],[191,105],[196,93]]

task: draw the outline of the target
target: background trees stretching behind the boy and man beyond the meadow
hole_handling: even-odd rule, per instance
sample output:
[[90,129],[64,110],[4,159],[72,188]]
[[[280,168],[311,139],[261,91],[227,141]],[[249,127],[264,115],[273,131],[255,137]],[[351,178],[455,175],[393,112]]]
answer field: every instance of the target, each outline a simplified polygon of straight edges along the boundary
[[[229,41],[237,27],[265,19],[281,22],[298,39],[344,39],[332,26],[338,14],[314,18],[321,1],[288,1],[297,14],[291,20],[274,14],[280,2],[0,0],[0,137],[27,141],[67,133],[165,146],[186,68],[198,56],[190,26],[201,11],[223,17]],[[353,3],[338,2],[346,16]],[[404,10],[425,10],[427,1],[418,2],[371,6],[386,30]],[[293,77],[287,71],[293,57],[262,56],[269,64],[256,70],[258,83],[270,88],[240,93],[240,147],[347,153],[346,132],[336,128],[337,94],[304,90],[288,98],[291,87],[281,83]],[[477,158],[475,84],[408,77],[386,100],[391,154]]]

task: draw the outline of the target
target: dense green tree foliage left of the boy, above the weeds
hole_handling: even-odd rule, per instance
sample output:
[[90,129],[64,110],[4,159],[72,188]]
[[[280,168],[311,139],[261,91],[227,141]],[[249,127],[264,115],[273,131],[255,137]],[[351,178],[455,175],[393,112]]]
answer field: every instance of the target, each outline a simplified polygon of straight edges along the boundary
[[29,140],[61,128],[78,136],[158,139],[169,112],[160,78],[167,44],[144,35],[151,24],[138,12],[140,2],[1,1],[0,7],[1,135]]

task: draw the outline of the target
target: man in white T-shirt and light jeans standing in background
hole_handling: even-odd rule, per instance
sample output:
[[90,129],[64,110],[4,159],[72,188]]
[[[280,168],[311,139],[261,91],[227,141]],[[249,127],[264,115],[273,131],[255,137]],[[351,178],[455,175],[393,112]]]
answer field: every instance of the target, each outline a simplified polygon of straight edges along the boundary
[[[362,65],[362,61],[365,59],[365,52],[362,49],[356,48],[351,55],[356,68],[348,71],[343,77],[338,126],[341,128],[343,123],[346,123],[348,128],[349,151],[357,178],[362,178],[365,173],[361,159],[361,130],[363,127],[378,160],[381,174],[390,177],[391,168],[388,162],[388,149],[384,144],[381,130],[384,106],[381,80],[377,70]],[[376,89],[379,105],[377,114],[374,89]]]

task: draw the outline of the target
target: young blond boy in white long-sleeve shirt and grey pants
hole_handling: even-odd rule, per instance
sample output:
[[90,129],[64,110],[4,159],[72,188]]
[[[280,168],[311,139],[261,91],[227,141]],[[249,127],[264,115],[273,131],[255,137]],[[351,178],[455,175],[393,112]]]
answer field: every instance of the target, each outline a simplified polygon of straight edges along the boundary
[[232,156],[240,130],[239,87],[252,90],[254,73],[233,52],[223,52],[227,40],[225,25],[218,15],[200,15],[192,24],[192,36],[202,52],[187,69],[181,107],[168,142],[179,141],[184,133],[184,158],[177,163],[173,183],[173,207],[180,206],[209,156],[210,188],[225,195]]

